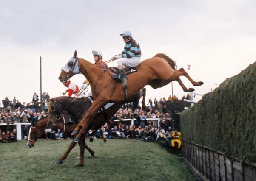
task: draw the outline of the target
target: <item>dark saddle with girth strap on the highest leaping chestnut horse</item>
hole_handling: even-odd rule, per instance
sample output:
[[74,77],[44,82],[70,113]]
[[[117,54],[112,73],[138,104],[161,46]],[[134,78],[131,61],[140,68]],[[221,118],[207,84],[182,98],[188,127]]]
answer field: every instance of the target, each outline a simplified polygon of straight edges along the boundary
[[[117,67],[109,67],[108,72],[111,76],[117,75],[118,68]],[[128,97],[127,97],[127,84],[126,84],[126,79],[128,74],[131,74],[133,72],[137,72],[137,70],[134,67],[128,67],[123,70],[123,77],[122,77],[122,88],[125,93],[125,102],[128,102]]]

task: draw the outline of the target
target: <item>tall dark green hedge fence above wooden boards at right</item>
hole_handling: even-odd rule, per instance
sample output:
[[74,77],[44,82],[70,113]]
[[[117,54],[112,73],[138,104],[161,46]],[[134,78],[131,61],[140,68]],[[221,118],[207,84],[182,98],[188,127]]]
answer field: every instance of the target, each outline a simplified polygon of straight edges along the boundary
[[256,163],[256,62],[181,114],[182,139]]

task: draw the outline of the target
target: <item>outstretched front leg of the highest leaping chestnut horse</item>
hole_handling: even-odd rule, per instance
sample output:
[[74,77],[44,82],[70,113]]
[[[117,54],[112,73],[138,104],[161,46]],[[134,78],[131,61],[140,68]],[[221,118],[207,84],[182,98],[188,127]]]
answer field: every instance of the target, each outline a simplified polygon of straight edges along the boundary
[[72,132],[72,134],[74,134],[77,133],[78,130],[80,130],[73,142],[78,142],[80,140],[81,136],[85,134],[88,126],[91,125],[94,116],[97,114],[97,111],[102,108],[102,106],[104,106],[106,103],[108,103],[108,100],[101,96],[98,96],[97,99],[94,100],[91,107],[86,112],[85,116],[82,118],[75,130]]

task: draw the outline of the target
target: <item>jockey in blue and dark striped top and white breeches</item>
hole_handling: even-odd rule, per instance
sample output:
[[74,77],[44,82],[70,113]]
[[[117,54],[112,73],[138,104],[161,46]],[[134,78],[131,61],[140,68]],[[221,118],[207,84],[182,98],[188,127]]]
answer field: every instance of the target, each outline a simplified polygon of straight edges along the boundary
[[114,59],[119,59],[118,75],[112,76],[116,81],[122,82],[123,68],[137,67],[140,63],[141,50],[139,43],[131,37],[131,31],[124,31],[120,34],[125,42],[124,50],[119,55],[114,55]]

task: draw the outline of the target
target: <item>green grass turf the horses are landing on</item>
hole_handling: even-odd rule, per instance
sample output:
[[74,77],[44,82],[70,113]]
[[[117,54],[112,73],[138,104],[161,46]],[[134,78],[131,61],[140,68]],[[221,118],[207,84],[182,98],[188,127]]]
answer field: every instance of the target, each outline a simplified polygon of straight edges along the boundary
[[26,140],[0,144],[1,181],[192,181],[193,175],[178,156],[168,153],[154,142],[131,139],[112,139],[106,143],[94,139],[88,143],[96,158],[89,158],[85,150],[84,167],[74,167],[79,162],[78,145],[61,165],[57,160],[68,148],[65,140],[36,142],[34,148]]

